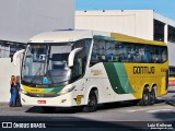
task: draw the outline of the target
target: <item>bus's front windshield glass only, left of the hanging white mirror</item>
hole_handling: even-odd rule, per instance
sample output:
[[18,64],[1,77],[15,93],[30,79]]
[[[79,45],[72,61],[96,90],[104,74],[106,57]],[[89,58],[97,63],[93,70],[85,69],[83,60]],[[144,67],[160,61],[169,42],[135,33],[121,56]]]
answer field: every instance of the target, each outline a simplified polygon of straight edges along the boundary
[[22,82],[34,86],[68,82],[71,44],[65,45],[30,45],[23,62]]

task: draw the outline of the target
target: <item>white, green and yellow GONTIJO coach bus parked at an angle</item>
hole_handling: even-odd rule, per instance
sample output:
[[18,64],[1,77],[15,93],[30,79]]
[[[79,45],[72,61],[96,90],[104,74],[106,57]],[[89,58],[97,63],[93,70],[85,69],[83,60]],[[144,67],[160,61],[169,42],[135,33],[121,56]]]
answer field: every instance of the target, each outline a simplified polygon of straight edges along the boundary
[[167,94],[167,46],[116,33],[46,32],[30,39],[21,76],[22,104],[45,111],[95,111],[97,104],[133,99],[153,105]]

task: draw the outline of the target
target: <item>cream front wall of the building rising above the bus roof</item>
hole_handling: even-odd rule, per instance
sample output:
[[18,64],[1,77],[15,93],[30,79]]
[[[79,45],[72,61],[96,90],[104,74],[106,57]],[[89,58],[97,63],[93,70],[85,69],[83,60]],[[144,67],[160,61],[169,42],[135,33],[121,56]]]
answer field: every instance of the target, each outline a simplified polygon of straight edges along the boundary
[[77,11],[75,28],[153,39],[153,10]]

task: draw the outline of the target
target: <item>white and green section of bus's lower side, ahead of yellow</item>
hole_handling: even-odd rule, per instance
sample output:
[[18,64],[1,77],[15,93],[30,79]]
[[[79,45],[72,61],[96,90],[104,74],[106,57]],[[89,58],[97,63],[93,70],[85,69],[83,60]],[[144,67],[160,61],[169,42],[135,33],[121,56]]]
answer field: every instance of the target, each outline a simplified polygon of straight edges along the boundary
[[[120,64],[120,67],[124,68],[122,64]],[[121,68],[115,67],[113,62],[96,63],[88,69],[85,74],[88,80],[85,84],[86,91],[84,92],[86,99],[88,93],[92,87],[97,87],[98,90],[98,103],[136,99],[132,95],[128,78],[126,75],[122,78],[117,76],[117,71],[119,70],[121,70]],[[126,73],[125,70],[122,71]],[[126,88],[127,85],[129,85],[129,88]]]

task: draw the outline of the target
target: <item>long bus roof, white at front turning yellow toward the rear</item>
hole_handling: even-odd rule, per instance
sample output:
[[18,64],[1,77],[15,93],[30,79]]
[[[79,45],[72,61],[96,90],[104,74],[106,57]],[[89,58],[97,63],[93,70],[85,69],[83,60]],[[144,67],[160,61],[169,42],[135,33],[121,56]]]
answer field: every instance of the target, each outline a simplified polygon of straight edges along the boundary
[[35,35],[30,39],[30,43],[68,43],[75,41],[84,38],[101,38],[104,40],[117,40],[117,41],[128,41],[128,43],[138,43],[138,44],[150,44],[150,45],[160,45],[166,46],[163,41],[147,40],[142,38],[137,38],[132,36],[127,36],[118,33],[107,33],[98,31],[52,31],[45,32],[38,35]]

